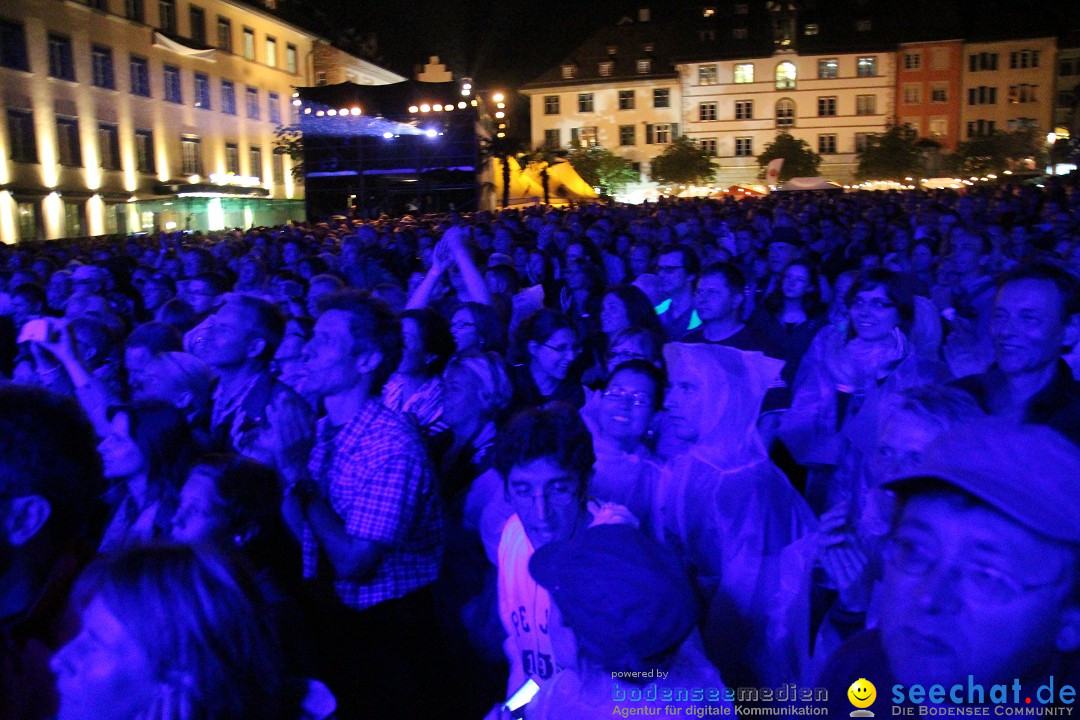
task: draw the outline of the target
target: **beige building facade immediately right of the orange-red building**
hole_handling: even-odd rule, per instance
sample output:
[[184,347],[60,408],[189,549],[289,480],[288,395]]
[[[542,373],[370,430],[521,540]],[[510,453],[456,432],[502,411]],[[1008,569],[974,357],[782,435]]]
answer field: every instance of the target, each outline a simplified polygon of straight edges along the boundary
[[1053,128],[1057,41],[1052,37],[963,45],[961,139]]

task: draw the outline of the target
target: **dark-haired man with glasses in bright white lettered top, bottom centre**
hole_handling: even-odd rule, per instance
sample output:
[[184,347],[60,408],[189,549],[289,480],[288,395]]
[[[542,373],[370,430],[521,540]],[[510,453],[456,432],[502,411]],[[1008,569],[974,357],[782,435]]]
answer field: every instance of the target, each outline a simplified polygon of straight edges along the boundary
[[586,503],[595,460],[592,436],[568,405],[521,412],[496,439],[495,468],[513,512],[497,560],[508,696],[528,678],[543,682],[572,661],[555,657],[548,622],[551,596],[529,574],[532,553],[586,527],[633,519],[621,506]]

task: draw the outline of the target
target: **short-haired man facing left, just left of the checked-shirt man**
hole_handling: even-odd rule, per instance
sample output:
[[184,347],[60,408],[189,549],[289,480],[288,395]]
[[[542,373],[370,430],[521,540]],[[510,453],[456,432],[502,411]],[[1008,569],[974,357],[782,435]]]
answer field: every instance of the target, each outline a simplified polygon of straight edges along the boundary
[[312,422],[307,403],[270,372],[285,320],[269,300],[230,295],[221,308],[189,334],[191,353],[218,377],[211,413],[214,450],[264,458],[269,441],[267,407],[287,404]]

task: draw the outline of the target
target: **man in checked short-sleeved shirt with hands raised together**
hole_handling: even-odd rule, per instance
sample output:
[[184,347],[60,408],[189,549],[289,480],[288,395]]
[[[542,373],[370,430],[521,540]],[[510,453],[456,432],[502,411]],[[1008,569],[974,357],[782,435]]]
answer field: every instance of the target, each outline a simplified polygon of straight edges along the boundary
[[426,717],[438,694],[414,683],[441,657],[431,584],[442,522],[422,438],[379,400],[401,362],[401,322],[362,290],[321,304],[300,385],[326,408],[314,447],[305,417],[278,404],[267,413],[305,578],[325,581],[312,613],[325,677],[342,717]]

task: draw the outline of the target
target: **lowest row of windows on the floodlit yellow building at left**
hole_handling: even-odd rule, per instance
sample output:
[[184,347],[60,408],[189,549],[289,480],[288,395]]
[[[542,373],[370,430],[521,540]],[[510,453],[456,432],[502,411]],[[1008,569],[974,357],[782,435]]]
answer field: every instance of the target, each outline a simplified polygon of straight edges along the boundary
[[[153,131],[135,130],[133,139],[135,169],[139,173],[156,173]],[[33,113],[31,111],[8,110],[8,140],[13,161],[38,162],[38,144],[33,132]],[[56,118],[56,148],[57,161],[60,165],[81,167],[84,164],[78,118],[63,116]],[[120,130],[116,123],[97,124],[97,164],[103,169],[122,169]],[[278,153],[272,155],[272,160],[273,181],[281,185],[285,181],[284,161],[282,155]],[[181,175],[201,175],[203,173],[201,138],[192,135],[180,136],[180,165]],[[261,175],[261,148],[255,146],[248,148],[248,167],[253,175]],[[235,142],[226,142],[225,145],[225,171],[240,175],[240,149]]]

